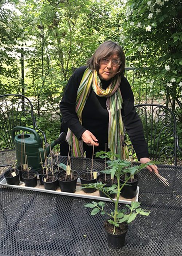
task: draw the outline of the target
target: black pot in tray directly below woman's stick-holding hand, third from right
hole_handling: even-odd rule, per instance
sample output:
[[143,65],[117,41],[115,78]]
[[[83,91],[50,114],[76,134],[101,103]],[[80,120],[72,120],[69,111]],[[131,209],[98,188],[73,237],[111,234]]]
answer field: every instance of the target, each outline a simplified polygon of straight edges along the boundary
[[[96,170],[92,170],[92,172],[97,172],[97,176],[100,174],[98,171]],[[91,173],[91,170],[82,170],[80,173],[79,173],[79,178],[80,178],[80,181],[81,181],[81,184],[89,184],[89,183],[96,183],[97,182],[97,179],[94,179],[93,177],[93,174],[92,174],[92,180],[90,179],[90,173]],[[96,188],[82,188],[82,190],[85,192],[85,193],[93,193],[96,191]]]

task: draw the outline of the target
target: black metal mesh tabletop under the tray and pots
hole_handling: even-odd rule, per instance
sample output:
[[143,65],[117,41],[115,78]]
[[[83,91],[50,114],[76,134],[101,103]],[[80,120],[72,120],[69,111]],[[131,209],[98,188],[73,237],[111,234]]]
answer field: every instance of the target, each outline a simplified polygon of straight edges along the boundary
[[[66,158],[60,161],[66,163]],[[73,169],[91,167],[90,159],[71,158],[71,162]],[[94,160],[94,169],[103,168],[102,160]],[[0,186],[0,255],[181,256],[182,167],[158,168],[170,187],[146,169],[139,173],[139,202],[150,214],[130,223],[125,245],[117,250],[107,245],[106,217],[91,216],[84,207],[92,200]],[[106,207],[114,210],[113,203]]]

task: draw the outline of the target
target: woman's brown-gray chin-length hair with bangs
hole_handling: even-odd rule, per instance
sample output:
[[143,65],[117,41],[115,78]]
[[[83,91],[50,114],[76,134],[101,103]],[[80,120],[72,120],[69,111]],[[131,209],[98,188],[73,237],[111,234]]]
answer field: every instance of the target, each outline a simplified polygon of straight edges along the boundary
[[99,45],[99,47],[96,49],[95,53],[87,61],[87,65],[91,70],[96,69],[97,72],[99,72],[100,59],[111,57],[114,54],[116,54],[121,61],[117,75],[123,75],[124,74],[124,66],[125,66],[125,55],[124,55],[123,49],[118,43],[113,42],[111,40],[103,42],[101,45]]

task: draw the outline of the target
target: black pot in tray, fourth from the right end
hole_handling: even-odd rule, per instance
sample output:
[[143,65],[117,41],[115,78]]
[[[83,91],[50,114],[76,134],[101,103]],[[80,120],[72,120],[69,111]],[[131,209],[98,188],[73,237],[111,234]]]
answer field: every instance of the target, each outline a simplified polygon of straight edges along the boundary
[[78,173],[74,171],[74,179],[73,180],[61,180],[61,177],[66,176],[66,171],[61,171],[58,173],[58,182],[62,192],[75,193],[76,191],[76,182],[78,179]]

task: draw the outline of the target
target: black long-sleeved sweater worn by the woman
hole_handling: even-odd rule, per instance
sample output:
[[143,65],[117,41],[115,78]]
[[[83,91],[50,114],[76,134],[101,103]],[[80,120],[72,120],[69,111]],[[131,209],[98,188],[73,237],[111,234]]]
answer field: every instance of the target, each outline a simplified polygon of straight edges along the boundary
[[[80,139],[85,130],[89,130],[98,139],[99,145],[103,145],[101,148],[104,150],[104,145],[108,142],[109,114],[106,108],[107,98],[99,97],[91,88],[82,112],[82,125],[75,112],[76,93],[86,68],[86,66],[82,66],[76,69],[65,88],[63,99],[60,102],[60,110],[63,117],[61,130],[67,132],[69,127],[78,139]],[[101,80],[103,89],[106,89],[110,82],[111,80]],[[134,107],[134,96],[130,84],[124,76],[122,76],[120,90],[123,98],[123,123],[137,157],[138,159],[149,157],[142,122]]]

